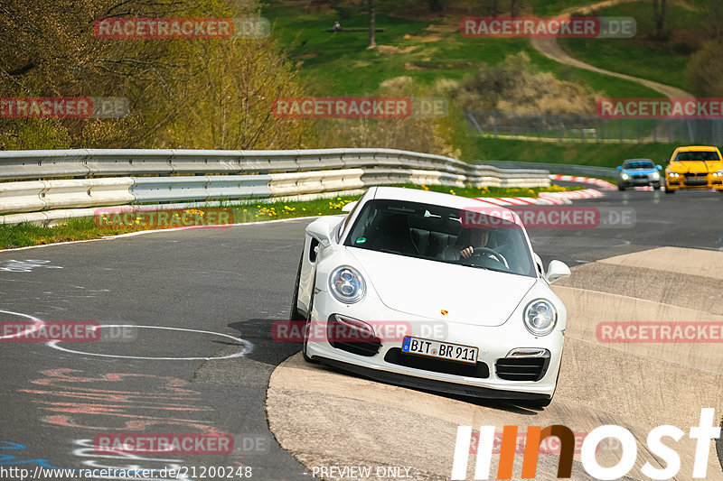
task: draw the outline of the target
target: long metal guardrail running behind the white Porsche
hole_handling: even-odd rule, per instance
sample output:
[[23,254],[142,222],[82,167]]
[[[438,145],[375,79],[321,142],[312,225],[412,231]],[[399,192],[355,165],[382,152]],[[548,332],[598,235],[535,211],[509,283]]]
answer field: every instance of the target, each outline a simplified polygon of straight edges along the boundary
[[7,151],[0,152],[0,214],[7,214],[0,224],[48,224],[92,215],[94,207],[323,197],[407,182],[539,187],[549,185],[548,174],[393,149]]

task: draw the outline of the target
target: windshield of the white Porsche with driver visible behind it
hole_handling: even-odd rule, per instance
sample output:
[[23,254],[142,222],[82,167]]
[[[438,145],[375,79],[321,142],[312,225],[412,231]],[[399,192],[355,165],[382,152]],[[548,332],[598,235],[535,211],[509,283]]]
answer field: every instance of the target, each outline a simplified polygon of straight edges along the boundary
[[417,202],[367,202],[344,245],[358,249],[535,276],[521,226],[463,227],[461,210]]

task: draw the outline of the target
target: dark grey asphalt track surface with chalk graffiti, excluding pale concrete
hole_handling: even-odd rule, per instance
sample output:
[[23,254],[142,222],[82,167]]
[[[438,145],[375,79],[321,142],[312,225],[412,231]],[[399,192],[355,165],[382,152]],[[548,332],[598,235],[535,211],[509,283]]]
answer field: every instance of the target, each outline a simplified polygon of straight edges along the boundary
[[[545,264],[666,245],[723,250],[719,193],[610,192],[575,205],[634,208],[636,225],[531,229]],[[0,343],[0,467],[251,467],[253,479],[309,479],[273,439],[264,406],[274,367],[299,350],[272,340],[270,326],[287,319],[308,222],[0,252],[0,319],[143,327],[127,342]],[[230,433],[268,449],[139,458],[92,449],[96,435],[139,431]]]

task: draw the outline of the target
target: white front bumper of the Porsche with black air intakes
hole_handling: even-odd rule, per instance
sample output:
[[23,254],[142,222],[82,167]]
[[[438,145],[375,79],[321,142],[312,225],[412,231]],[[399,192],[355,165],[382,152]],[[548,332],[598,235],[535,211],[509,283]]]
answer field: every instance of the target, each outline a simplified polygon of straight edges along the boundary
[[[328,338],[315,338],[306,345],[306,355],[323,364],[390,384],[479,398],[542,400],[549,399],[555,392],[564,341],[563,330],[560,328],[560,324],[564,326],[564,322],[560,320],[558,328],[552,333],[538,338],[524,328],[521,314],[517,310],[512,319],[501,326],[475,326],[410,316],[390,310],[380,300],[369,296],[360,302],[360,305],[349,306],[326,294],[319,292],[315,297],[311,316],[312,323],[315,324],[311,330],[314,332],[324,332],[328,322],[326,319],[334,313],[362,321],[383,319],[390,322],[408,322],[414,337],[478,347],[479,354],[476,365],[470,365],[402,353],[400,338],[382,339],[376,354],[373,351],[349,352],[348,348],[340,348],[338,343],[334,343],[334,347]],[[446,332],[429,328],[432,323],[446,326]],[[517,348],[545,349],[549,355],[515,358],[511,362],[512,358],[508,357],[508,354]],[[424,362],[418,362],[420,357]],[[518,366],[513,364],[518,359],[525,359],[522,361],[525,365],[515,371]],[[531,364],[536,365],[534,369],[537,371],[528,371]],[[422,365],[433,367],[421,368]],[[539,375],[522,376],[524,379],[534,377],[534,380],[516,380],[520,375],[515,373],[521,372]]]

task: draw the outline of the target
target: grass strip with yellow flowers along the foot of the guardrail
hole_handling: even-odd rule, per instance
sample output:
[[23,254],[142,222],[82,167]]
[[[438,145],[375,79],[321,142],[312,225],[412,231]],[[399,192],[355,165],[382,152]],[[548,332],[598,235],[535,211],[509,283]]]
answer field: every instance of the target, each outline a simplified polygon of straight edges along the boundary
[[[559,186],[550,186],[533,189],[502,189],[497,187],[458,188],[449,186],[417,186],[404,185],[409,189],[425,189],[437,192],[450,193],[464,197],[536,197],[540,192],[554,192],[568,190]],[[306,201],[272,201],[264,203],[243,203],[224,206],[233,213],[233,222],[258,222],[279,218],[328,216],[342,214],[344,205],[359,199],[361,196],[344,196],[333,199],[315,199]],[[111,209],[109,209],[111,210]],[[194,214],[204,213],[204,208],[187,209]],[[143,219],[137,217],[138,225],[129,227],[107,228],[99,227],[93,218],[71,218],[56,227],[39,227],[23,223],[16,226],[0,226],[0,249],[25,247],[28,245],[45,245],[58,242],[98,239],[103,236],[114,236],[128,232],[148,230],[155,227],[143,226]],[[100,223],[99,223],[100,224]],[[102,224],[100,224],[102,226]],[[170,223],[168,227],[179,227],[181,224]]]

